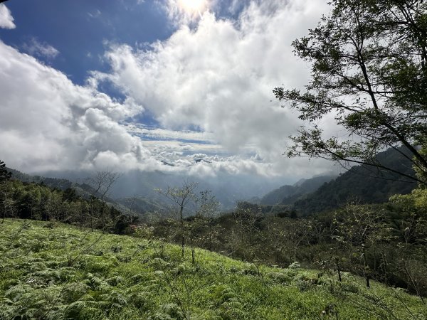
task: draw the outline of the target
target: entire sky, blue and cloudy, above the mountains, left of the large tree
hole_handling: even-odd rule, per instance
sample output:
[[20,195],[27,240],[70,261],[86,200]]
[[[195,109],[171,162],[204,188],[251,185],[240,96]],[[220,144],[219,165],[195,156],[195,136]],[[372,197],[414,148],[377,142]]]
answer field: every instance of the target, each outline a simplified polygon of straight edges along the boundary
[[322,174],[332,164],[283,156],[302,122],[272,91],[307,85],[291,43],[326,2],[6,1],[0,159],[29,173]]

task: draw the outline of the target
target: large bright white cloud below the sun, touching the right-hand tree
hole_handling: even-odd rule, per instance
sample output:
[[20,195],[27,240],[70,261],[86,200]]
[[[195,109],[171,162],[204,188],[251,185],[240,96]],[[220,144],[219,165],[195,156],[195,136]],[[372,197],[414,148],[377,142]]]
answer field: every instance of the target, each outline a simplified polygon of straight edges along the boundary
[[112,82],[167,129],[197,127],[231,153],[251,149],[270,164],[262,171],[295,171],[288,164],[301,161],[282,154],[301,123],[271,101],[272,90],[307,83],[309,66],[290,43],[328,9],[320,0],[251,1],[238,21],[206,11],[196,28],[181,24],[149,50],[112,45],[110,73],[93,73],[92,81]]

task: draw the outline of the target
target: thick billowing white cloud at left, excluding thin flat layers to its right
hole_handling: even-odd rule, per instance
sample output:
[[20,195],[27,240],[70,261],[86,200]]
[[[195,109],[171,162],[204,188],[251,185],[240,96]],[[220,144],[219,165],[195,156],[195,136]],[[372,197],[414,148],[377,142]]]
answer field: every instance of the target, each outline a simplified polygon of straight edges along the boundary
[[142,112],[0,41],[0,158],[24,171],[158,166],[119,122]]

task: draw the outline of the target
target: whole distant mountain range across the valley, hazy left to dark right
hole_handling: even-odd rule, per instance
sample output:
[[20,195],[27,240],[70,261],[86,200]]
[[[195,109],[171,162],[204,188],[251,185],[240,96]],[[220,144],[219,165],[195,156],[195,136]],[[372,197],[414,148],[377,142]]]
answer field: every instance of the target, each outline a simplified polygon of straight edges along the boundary
[[[377,155],[386,166],[413,175],[411,161],[398,151],[389,149]],[[74,188],[80,196],[88,198],[94,194],[94,189],[85,183],[83,176],[88,173],[68,172],[63,176],[69,178],[48,178],[46,176],[31,176],[14,169],[13,178],[23,182],[44,183],[51,188],[65,190]],[[59,175],[60,173],[57,173]],[[80,177],[80,180],[79,180]],[[162,212],[170,205],[169,201],[159,195],[155,188],[181,186],[188,176],[183,174],[167,174],[159,171],[132,171],[117,180],[107,202],[116,208],[129,213],[144,215],[147,212]],[[278,180],[259,178],[254,181],[250,176],[230,176],[224,174],[212,178],[194,178],[199,182],[199,191],[211,190],[223,211],[233,210],[237,201],[251,201],[263,206],[286,206],[295,210],[299,215],[310,215],[325,210],[339,208],[348,201],[361,203],[382,203],[396,193],[410,193],[416,188],[416,183],[401,181],[399,176],[381,173],[369,166],[354,166],[344,174],[325,174],[309,179],[301,179],[293,185],[284,185],[265,194],[266,191],[280,186]],[[262,198],[256,196],[265,194]]]

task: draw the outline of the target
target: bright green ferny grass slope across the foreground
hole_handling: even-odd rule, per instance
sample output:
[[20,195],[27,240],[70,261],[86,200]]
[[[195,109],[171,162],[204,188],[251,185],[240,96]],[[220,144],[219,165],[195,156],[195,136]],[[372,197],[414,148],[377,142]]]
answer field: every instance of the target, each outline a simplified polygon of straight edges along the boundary
[[[231,260],[28,220],[0,224],[0,319],[427,319],[420,299],[359,277]],[[188,306],[190,314],[188,315]],[[184,311],[183,311],[184,310]],[[186,317],[184,317],[186,312]]]

